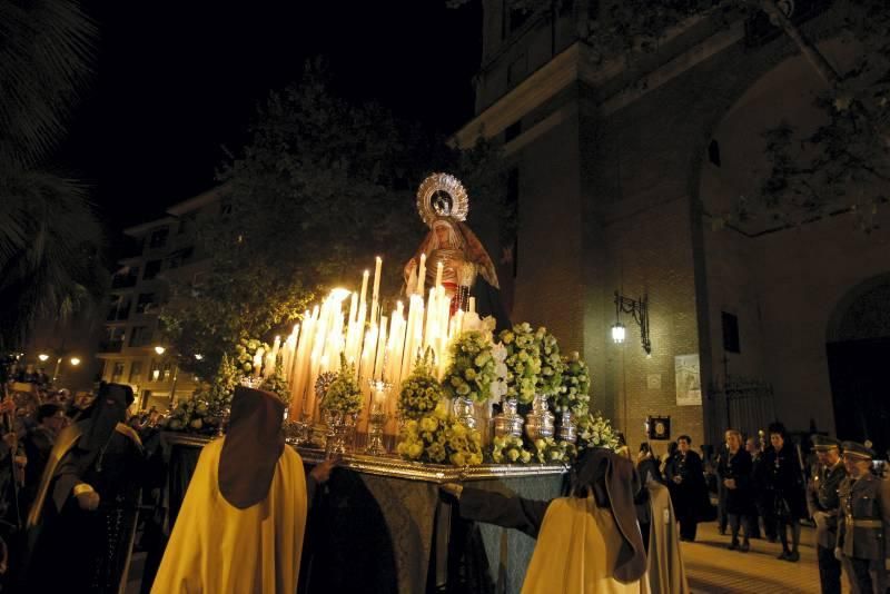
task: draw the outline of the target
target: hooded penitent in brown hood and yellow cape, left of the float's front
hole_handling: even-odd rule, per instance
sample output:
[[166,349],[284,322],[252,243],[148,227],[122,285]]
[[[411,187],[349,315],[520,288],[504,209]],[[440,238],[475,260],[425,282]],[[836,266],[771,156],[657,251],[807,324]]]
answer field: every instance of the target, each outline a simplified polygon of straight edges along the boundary
[[239,387],[228,434],[207,444],[152,592],[296,592],[306,526],[303,461],[284,404]]

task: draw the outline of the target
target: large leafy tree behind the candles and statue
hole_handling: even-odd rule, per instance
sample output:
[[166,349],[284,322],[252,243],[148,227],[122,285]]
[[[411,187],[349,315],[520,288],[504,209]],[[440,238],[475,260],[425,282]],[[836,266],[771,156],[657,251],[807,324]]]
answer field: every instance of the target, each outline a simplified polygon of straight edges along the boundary
[[298,83],[269,95],[249,143],[222,167],[230,212],[199,220],[210,268],[198,285],[174,284],[161,314],[167,338],[204,355],[186,368],[212,372],[240,338],[268,337],[316,295],[354,285],[375,255],[385,260],[382,296],[394,298],[426,232],[419,182],[432,169],[466,176],[471,218],[484,216],[500,199],[494,154],[487,145],[452,150],[378,106],[350,105],[322,65],[307,65]]

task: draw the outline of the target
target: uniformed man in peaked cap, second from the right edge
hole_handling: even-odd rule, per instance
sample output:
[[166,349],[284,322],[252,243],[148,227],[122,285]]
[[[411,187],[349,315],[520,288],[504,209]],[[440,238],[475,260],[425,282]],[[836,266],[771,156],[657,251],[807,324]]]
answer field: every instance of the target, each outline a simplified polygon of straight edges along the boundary
[[813,451],[819,464],[813,466],[813,475],[807,489],[810,515],[815,521],[815,542],[819,558],[819,581],[822,594],[840,594],[841,564],[834,558],[838,542],[838,491],[847,478],[847,469],[840,455],[841,443],[833,437],[812,436]]

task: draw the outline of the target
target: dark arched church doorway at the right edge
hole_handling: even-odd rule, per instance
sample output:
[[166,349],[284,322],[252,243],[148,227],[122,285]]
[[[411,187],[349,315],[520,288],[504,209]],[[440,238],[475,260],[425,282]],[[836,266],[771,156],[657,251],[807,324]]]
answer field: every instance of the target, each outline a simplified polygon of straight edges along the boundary
[[828,365],[837,435],[890,448],[890,274],[861,283],[834,309]]

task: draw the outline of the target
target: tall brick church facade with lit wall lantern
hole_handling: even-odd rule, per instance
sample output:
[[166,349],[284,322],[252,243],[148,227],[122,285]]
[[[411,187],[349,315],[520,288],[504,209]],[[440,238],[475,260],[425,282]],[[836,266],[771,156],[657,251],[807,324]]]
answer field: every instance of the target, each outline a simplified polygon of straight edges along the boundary
[[[498,276],[512,319],[583,354],[594,407],[632,446],[650,416],[694,444],[774,418],[882,439],[886,389],[868,362],[890,355],[890,208],[870,209],[871,232],[861,209],[793,228],[723,216],[762,184],[765,129],[819,122],[824,83],[797,46],[762,16],[702,18],[654,51],[602,59],[587,41],[600,3],[547,4],[485,0],[476,116],[455,136],[504,142],[518,216]],[[793,10],[851,66],[830,2]],[[645,300],[649,353],[616,295]],[[610,335],[619,319],[623,344]],[[851,414],[850,398],[873,414]]]

